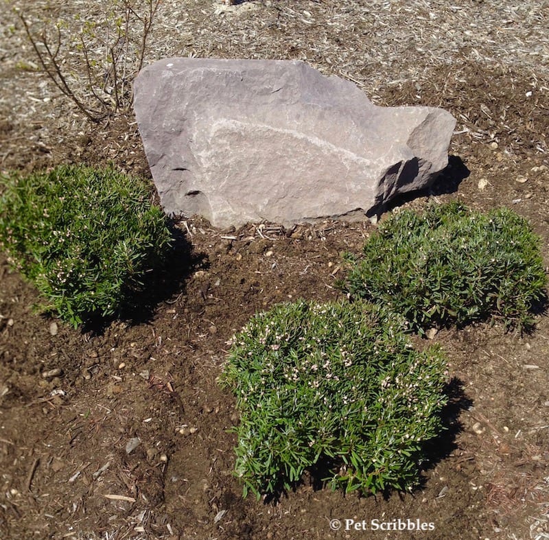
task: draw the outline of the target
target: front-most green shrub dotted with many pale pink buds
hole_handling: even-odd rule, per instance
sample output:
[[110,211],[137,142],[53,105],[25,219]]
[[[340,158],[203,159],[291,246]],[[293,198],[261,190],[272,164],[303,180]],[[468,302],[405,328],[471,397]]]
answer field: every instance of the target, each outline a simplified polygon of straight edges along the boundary
[[440,349],[415,351],[403,318],[368,303],[305,301],[257,314],[221,377],[240,411],[235,473],[290,489],[314,467],[333,489],[411,489],[447,398]]

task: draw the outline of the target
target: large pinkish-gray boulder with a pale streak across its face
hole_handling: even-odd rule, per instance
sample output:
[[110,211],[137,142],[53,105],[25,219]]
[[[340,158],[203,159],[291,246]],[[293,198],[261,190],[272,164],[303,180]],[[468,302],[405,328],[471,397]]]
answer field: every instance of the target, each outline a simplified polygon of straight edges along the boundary
[[456,124],[288,60],[169,58],[134,95],[163,208],[219,227],[379,213],[434,181]]

